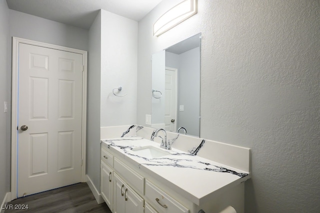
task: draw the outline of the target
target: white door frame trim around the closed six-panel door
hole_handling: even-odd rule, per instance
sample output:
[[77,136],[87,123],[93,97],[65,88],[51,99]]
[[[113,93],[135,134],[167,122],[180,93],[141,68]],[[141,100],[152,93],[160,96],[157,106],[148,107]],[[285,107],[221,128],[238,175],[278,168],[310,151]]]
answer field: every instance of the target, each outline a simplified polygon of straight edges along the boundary
[[17,198],[17,118],[18,118],[18,57],[19,43],[57,49],[82,54],[82,135],[81,135],[81,182],[86,182],[86,87],[87,87],[87,51],[48,44],[24,38],[12,37],[12,108],[11,108],[11,201]]

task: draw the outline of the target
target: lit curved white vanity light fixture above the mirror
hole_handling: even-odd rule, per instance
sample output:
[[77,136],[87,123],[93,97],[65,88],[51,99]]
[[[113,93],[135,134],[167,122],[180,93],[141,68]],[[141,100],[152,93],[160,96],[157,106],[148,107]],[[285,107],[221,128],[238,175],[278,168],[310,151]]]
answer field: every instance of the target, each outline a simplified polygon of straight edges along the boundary
[[197,0],[183,0],[155,21],[153,24],[153,35],[161,35],[196,13]]

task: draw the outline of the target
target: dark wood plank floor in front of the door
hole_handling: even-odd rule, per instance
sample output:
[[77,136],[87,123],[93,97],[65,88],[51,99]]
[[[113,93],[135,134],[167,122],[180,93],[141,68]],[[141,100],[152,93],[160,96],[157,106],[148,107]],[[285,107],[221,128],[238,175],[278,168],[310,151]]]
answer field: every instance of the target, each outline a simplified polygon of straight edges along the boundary
[[[13,210],[6,206],[4,213],[111,213],[105,203],[96,203],[86,183],[18,198],[7,205],[12,205]],[[16,210],[23,205],[27,205],[28,209]]]

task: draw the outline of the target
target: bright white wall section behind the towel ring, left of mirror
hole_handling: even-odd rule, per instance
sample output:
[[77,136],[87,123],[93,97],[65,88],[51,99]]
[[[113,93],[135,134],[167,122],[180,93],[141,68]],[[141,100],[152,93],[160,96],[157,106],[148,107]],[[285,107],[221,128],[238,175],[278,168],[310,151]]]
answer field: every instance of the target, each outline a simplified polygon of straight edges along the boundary
[[[136,124],[137,22],[101,10],[101,127]],[[122,86],[124,95],[112,89]]]

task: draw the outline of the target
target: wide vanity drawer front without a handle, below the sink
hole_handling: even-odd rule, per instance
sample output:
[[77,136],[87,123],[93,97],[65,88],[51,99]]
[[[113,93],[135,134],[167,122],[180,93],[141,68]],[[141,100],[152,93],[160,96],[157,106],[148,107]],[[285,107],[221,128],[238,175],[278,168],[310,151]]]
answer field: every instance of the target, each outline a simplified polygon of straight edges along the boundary
[[114,158],[114,167],[113,167],[119,175],[121,175],[126,182],[133,187],[133,189],[137,190],[141,195],[143,195],[144,191],[144,178],[130,169],[128,166],[123,164],[117,158]]

